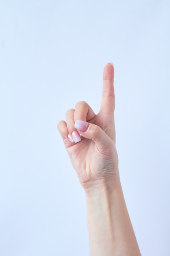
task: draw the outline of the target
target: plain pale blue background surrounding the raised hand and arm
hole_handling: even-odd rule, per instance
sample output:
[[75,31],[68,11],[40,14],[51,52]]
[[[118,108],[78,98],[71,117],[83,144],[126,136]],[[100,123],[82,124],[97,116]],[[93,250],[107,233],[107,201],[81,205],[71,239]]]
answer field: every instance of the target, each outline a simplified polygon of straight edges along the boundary
[[56,125],[99,110],[115,66],[117,150],[145,256],[170,255],[170,1],[0,0],[0,256],[87,256],[86,200]]

